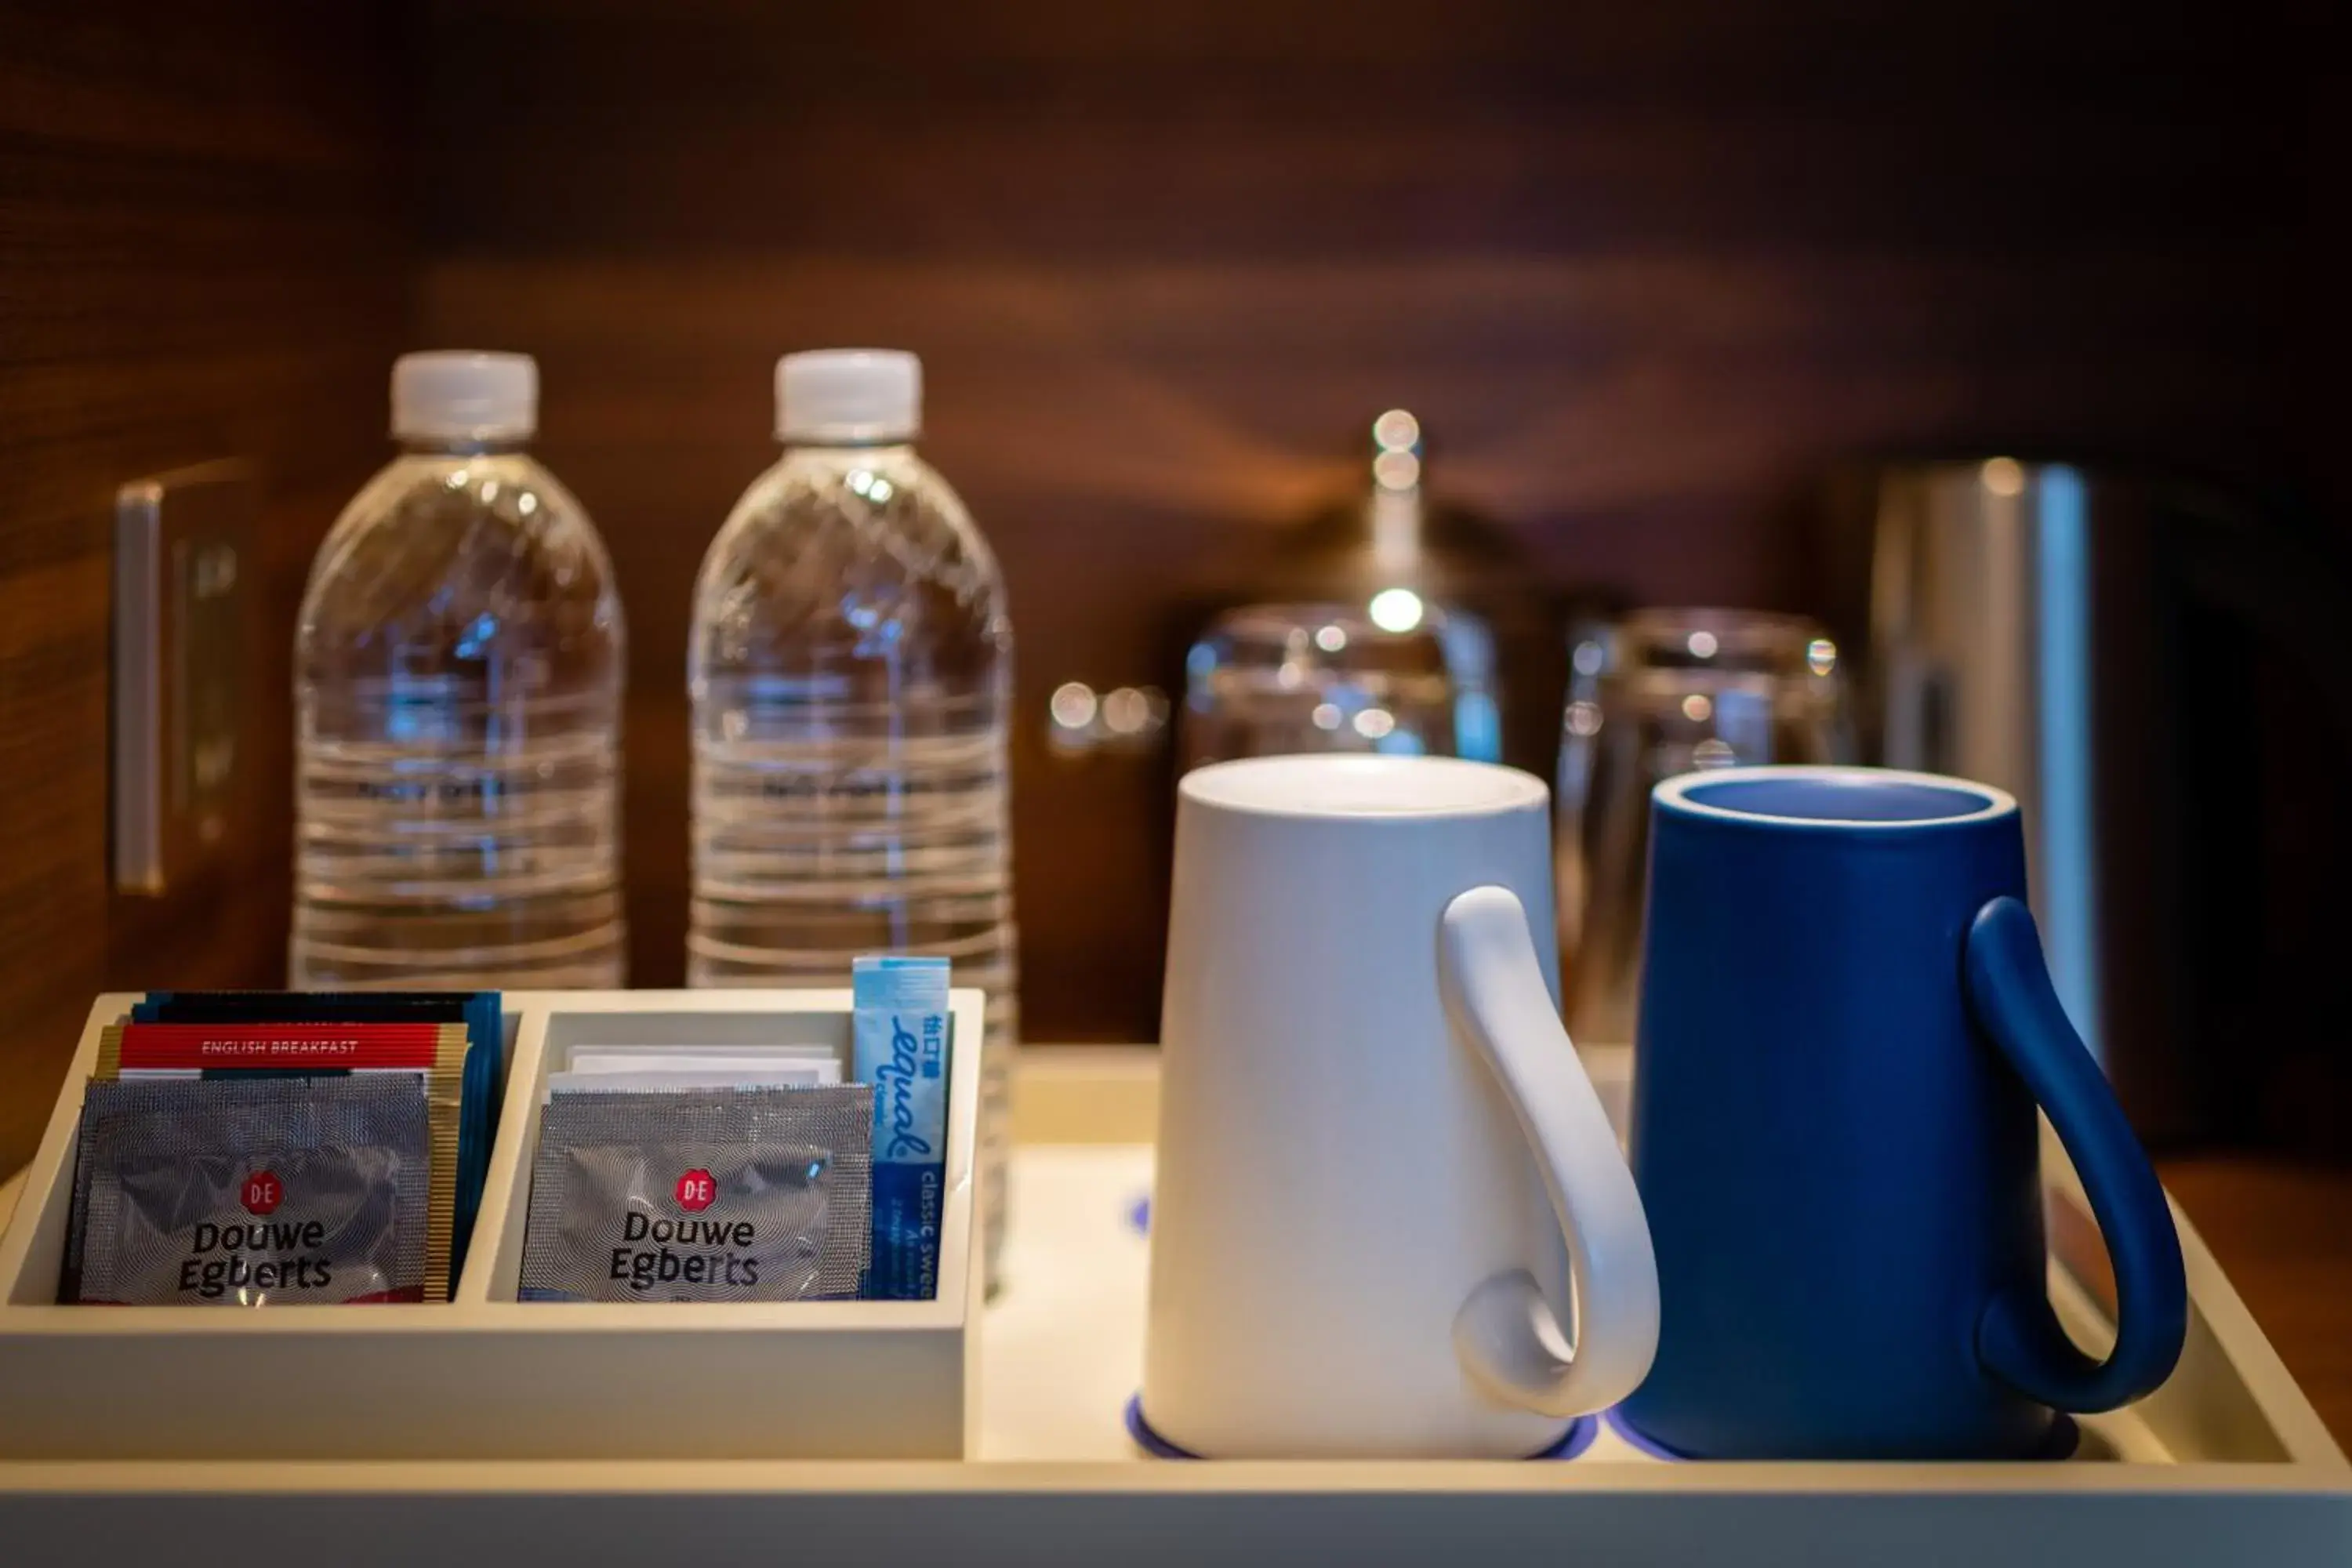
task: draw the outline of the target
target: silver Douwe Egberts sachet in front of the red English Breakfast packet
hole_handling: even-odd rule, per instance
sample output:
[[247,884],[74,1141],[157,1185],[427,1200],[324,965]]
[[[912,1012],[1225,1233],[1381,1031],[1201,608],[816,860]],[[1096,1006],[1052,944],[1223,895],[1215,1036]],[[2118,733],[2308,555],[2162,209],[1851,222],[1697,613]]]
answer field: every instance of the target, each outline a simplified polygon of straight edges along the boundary
[[426,1300],[433,1126],[414,1079],[92,1081],[85,1305]]

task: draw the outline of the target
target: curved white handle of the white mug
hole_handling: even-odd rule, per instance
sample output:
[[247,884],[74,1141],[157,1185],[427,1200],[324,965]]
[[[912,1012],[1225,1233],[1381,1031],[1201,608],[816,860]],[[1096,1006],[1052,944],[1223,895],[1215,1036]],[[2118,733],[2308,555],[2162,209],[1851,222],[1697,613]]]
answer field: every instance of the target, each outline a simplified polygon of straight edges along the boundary
[[[1503,1084],[1576,1281],[1576,1352],[1559,1356],[1538,1326],[1569,1321],[1536,1276],[1479,1281],[1454,1314],[1454,1354],[1491,1396],[1543,1415],[1585,1415],[1632,1394],[1658,1352],[1658,1260],[1632,1171],[1576,1046],[1559,1025],[1526,910],[1510,889],[1479,886],[1446,905],[1437,943],[1446,1018]],[[1559,1333],[1559,1342],[1566,1335]]]

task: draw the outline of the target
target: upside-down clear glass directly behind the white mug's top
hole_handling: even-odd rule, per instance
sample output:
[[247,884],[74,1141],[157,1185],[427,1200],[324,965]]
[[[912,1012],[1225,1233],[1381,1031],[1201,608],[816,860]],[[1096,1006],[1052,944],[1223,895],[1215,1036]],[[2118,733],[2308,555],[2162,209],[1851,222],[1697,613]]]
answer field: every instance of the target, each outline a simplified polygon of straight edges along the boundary
[[[1461,755],[1461,726],[1479,719],[1458,701],[1446,632],[1418,597],[1221,614],[1185,658],[1185,771],[1284,752]],[[1484,712],[1491,731],[1491,701]]]

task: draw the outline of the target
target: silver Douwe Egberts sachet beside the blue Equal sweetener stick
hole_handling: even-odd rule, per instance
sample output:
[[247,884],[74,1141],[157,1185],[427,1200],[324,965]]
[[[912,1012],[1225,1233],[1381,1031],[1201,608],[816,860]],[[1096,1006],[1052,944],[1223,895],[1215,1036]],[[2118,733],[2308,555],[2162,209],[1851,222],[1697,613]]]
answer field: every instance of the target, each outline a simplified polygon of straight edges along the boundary
[[517,1300],[847,1300],[873,1215],[873,1088],[597,1091],[539,1117]]

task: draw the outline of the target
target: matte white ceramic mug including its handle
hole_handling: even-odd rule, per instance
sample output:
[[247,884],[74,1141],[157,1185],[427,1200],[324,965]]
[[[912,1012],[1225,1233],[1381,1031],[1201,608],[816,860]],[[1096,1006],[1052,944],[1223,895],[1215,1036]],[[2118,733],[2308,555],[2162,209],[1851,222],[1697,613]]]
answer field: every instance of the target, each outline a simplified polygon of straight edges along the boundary
[[1185,776],[1143,1366],[1160,1436],[1522,1458],[1642,1382],[1658,1269],[1552,954],[1529,773],[1324,755]]

